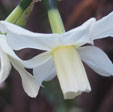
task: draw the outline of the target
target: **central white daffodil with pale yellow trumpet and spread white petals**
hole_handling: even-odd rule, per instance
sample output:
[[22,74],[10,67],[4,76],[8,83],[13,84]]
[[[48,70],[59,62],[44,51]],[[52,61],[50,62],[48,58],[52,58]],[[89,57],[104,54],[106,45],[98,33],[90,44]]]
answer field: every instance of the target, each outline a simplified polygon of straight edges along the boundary
[[98,21],[91,18],[64,34],[33,33],[4,21],[0,26],[8,32],[7,41],[12,49],[46,51],[24,62],[24,66],[34,68],[34,77],[40,85],[43,81],[53,79],[57,72],[65,99],[91,91],[81,59],[96,73],[113,75],[113,64],[101,49],[95,46],[82,47],[86,43],[93,44],[95,39],[113,36],[113,12]]

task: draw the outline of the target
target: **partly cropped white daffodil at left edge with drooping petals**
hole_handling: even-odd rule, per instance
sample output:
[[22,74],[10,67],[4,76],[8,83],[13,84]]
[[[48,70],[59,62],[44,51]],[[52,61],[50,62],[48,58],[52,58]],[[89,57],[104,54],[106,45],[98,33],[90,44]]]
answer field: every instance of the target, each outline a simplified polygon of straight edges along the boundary
[[8,77],[12,64],[22,78],[22,85],[25,92],[31,97],[36,97],[40,87],[39,84],[36,79],[25,70],[22,60],[18,58],[9,47],[6,38],[7,33],[3,32],[2,27],[0,27],[0,83]]

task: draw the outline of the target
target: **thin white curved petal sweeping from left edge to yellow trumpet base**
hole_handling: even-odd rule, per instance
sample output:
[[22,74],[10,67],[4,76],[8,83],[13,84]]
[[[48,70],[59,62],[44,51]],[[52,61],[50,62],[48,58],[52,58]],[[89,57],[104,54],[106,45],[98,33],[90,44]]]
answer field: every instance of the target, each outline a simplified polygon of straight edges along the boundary
[[0,46],[5,53],[7,53],[11,57],[15,58],[16,60],[20,61],[26,68],[34,68],[34,67],[44,63],[50,57],[50,52],[44,52],[44,53],[41,53],[40,55],[33,57],[32,59],[23,61],[9,47],[5,37],[0,38]]

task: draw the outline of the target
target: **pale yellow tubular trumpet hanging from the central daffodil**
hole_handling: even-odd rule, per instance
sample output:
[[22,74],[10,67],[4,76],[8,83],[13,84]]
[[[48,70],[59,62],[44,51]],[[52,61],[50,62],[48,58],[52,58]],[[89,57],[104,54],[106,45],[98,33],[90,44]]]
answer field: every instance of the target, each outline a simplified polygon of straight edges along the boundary
[[72,99],[82,92],[91,91],[84,66],[74,47],[59,47],[53,51],[53,57],[65,99]]

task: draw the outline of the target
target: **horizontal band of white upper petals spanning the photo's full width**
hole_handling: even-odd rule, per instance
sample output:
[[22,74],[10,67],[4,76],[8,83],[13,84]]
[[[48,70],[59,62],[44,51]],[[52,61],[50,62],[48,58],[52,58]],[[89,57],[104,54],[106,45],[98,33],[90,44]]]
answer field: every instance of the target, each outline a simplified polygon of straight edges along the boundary
[[[14,50],[34,48],[51,51],[57,46],[81,46],[86,43],[93,43],[95,39],[113,36],[112,18],[113,12],[98,21],[91,18],[83,25],[63,34],[33,33],[6,21],[0,22],[0,29],[2,29],[2,33],[7,34],[7,41]],[[17,44],[17,42],[20,44]]]

